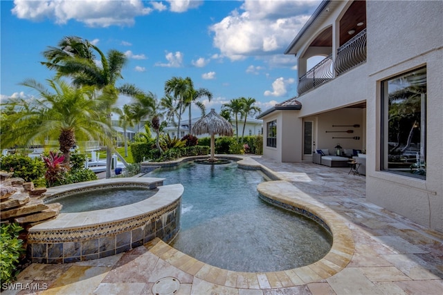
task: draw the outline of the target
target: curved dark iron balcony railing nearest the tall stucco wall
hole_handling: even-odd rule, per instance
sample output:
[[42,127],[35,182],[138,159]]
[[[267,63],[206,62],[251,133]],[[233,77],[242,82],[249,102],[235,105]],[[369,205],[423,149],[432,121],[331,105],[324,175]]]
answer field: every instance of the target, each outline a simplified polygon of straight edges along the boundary
[[334,63],[337,75],[345,73],[366,60],[366,29],[338,48]]

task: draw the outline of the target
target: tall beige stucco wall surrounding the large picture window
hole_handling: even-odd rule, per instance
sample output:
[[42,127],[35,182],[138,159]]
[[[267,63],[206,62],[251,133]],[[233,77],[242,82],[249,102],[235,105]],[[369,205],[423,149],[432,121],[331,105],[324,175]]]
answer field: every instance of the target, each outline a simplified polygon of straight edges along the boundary
[[[367,1],[366,198],[443,232],[443,2]],[[440,28],[440,29],[437,29]],[[390,44],[395,44],[392,46]],[[381,81],[426,66],[426,180],[380,171]]]

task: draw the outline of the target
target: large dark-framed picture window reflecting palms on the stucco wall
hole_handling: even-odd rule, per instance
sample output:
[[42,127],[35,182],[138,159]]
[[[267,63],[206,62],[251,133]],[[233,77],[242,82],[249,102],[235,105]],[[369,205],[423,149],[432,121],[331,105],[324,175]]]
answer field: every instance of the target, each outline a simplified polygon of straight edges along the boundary
[[426,68],[381,83],[385,171],[426,178]]

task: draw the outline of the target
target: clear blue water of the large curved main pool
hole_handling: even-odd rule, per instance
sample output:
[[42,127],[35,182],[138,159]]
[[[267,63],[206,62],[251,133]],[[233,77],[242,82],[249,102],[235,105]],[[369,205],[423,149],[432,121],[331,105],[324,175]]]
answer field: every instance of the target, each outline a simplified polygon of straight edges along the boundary
[[237,272],[274,272],[320,260],[332,237],[316,222],[261,200],[259,171],[237,164],[186,162],[147,177],[185,188],[181,231],[170,245],[204,263]]

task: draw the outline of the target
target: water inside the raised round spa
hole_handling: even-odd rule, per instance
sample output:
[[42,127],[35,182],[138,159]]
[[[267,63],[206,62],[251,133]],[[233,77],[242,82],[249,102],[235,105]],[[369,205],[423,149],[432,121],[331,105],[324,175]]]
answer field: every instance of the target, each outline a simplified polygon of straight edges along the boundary
[[84,212],[120,207],[140,202],[154,196],[157,189],[142,189],[135,187],[119,187],[75,193],[63,198],[56,198],[50,203],[63,205],[62,213]]

